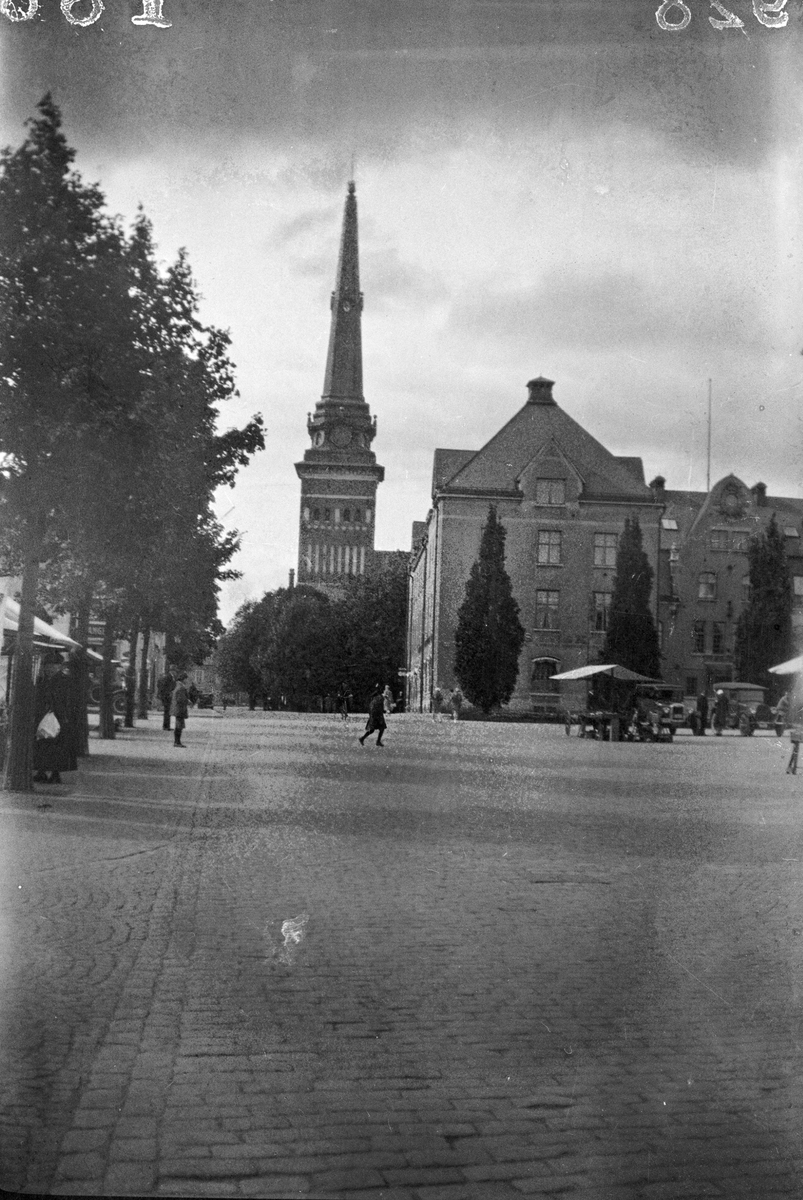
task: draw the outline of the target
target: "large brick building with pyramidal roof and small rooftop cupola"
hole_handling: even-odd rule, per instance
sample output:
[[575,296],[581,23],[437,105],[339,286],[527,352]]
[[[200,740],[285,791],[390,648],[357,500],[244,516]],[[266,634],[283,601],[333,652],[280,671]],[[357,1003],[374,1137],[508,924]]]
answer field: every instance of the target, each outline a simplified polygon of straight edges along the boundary
[[[605,641],[618,540],[637,517],[658,577],[664,502],[640,458],[617,457],[532,379],[527,403],[481,450],[436,450],[432,506],[413,527],[407,706],[453,688],[457,611],[489,506],[507,530],[505,566],[526,637],[511,707],[558,704],[551,676],[595,661]],[[658,618],[658,592],[653,611]]]

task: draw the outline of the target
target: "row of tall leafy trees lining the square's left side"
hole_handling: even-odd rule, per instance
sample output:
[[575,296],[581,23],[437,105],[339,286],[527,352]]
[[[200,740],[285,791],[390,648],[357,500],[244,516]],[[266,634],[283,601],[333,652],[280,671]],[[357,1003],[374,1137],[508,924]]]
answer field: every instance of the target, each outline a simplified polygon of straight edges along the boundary
[[[215,490],[264,445],[262,418],[220,433],[236,395],[228,335],[198,316],[187,257],[162,270],[142,210],[126,232],[50,96],[0,157],[0,552],[22,575],[6,786],[31,787],[37,604],[104,623],[101,734],[113,736],[112,647],[168,635],[172,661],[214,644],[238,535]],[[133,686],[130,689],[133,696]]]

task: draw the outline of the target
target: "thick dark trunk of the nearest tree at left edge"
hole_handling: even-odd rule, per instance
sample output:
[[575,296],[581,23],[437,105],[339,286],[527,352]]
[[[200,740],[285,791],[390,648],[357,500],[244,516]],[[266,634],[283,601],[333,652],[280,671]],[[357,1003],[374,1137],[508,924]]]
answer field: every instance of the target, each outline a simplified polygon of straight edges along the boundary
[[4,787],[8,792],[34,791],[34,610],[40,577],[43,530],[31,534],[23,566],[19,629],[11,683],[8,752]]

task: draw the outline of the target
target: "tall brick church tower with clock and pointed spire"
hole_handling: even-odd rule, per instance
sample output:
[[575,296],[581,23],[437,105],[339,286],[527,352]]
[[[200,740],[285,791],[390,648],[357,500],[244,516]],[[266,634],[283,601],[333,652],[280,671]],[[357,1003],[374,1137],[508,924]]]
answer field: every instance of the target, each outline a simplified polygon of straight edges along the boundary
[[295,470],[301,480],[299,583],[337,595],[371,571],[377,464],[371,443],[377,419],[362,396],[362,293],[356,244],[356,190],[348,185],[323,395],[307,418],[310,446]]

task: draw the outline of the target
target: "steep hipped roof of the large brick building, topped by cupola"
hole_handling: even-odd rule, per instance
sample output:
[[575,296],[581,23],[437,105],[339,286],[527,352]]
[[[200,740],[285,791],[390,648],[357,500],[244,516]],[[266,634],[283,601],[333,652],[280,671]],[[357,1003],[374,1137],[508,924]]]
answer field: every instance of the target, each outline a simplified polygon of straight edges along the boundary
[[[538,385],[537,388],[534,385]],[[546,386],[549,385],[549,388]],[[549,395],[547,395],[549,391]],[[535,397],[535,398],[533,398]],[[552,440],[585,481],[583,493],[600,498],[627,497],[641,503],[654,499],[634,466],[640,460],[617,458],[587,433],[551,396],[550,380],[533,380],[531,400],[441,490],[511,492],[523,468]],[[437,454],[443,451],[436,451]],[[437,481],[437,472],[436,472]],[[436,482],[437,486],[437,482]]]

